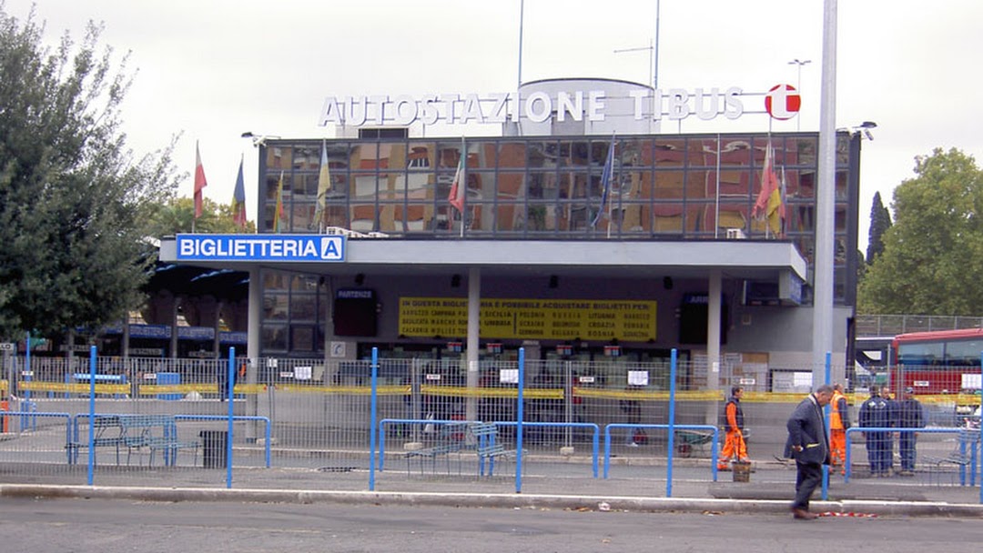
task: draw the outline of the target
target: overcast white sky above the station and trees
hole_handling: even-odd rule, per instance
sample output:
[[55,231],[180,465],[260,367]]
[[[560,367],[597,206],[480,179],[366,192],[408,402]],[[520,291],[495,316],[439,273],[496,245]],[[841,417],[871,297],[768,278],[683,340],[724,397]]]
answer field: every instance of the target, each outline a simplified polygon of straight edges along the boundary
[[[141,154],[180,136],[176,161],[188,176],[179,194],[190,196],[197,141],[204,195],[220,203],[231,201],[244,159],[250,219],[259,165],[242,134],[332,138],[333,129],[318,126],[329,95],[485,94],[514,90],[520,81],[574,77],[648,83],[657,65],[664,90],[763,92],[792,84],[801,90],[802,111],[772,130],[820,125],[823,0],[0,3],[20,20],[33,6],[51,43],[66,31],[81,40],[87,22],[102,23],[101,43],[118,58],[129,52],[128,68],[136,72],[123,104],[129,146]],[[836,125],[877,123],[874,139],[862,143],[864,250],[874,193],[890,206],[894,188],[914,177],[915,156],[955,147],[983,159],[977,98],[983,75],[974,63],[983,51],[983,2],[839,0],[837,15]],[[653,52],[657,64],[650,62]],[[796,59],[810,63],[789,63]],[[746,116],[682,131],[768,127],[767,118]],[[676,129],[664,125],[663,132]]]

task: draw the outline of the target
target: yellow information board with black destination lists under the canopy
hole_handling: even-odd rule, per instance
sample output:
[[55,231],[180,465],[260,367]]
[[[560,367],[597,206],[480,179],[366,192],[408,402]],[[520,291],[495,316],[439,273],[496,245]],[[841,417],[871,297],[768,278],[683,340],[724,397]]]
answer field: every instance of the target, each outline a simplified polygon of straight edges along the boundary
[[[610,300],[482,300],[482,338],[517,340],[656,339],[656,302]],[[463,337],[468,301],[400,298],[399,334]]]

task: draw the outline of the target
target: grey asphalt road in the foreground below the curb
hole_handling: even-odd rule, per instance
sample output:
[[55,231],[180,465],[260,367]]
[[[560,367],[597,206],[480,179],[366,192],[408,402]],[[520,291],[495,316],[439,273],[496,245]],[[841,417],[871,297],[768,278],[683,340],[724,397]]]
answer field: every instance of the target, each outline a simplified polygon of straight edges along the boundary
[[263,503],[0,498],[3,551],[974,551],[983,525],[881,517],[651,514]]

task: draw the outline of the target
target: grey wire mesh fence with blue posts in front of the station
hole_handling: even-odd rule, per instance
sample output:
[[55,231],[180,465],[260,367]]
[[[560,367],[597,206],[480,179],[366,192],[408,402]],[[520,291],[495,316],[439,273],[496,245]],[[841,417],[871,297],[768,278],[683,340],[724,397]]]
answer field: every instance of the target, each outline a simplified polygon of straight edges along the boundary
[[[351,489],[419,480],[511,489],[517,471],[530,481],[590,479],[599,489],[606,478],[671,481],[673,468],[712,482],[723,390],[745,388],[750,457],[772,463],[814,373],[724,367],[710,389],[705,363],[679,363],[672,389],[668,362],[534,360],[520,371],[516,361],[483,360],[469,374],[463,357],[379,359],[374,380],[371,360],[270,358],[237,359],[229,390],[228,359],[8,363],[0,481],[289,488],[321,487],[318,478],[331,474],[332,486]],[[960,398],[923,397],[930,423],[964,424]],[[864,399],[849,396],[854,422]],[[500,455],[480,453],[488,436],[473,434],[475,421],[493,423]],[[926,434],[919,455],[946,455],[955,436]],[[862,477],[863,440],[852,447],[852,473]]]

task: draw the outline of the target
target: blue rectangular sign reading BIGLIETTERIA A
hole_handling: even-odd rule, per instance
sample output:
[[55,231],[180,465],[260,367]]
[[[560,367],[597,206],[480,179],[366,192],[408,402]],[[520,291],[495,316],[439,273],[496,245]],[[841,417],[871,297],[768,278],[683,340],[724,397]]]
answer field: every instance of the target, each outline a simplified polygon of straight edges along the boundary
[[177,236],[179,261],[344,261],[345,237],[279,234]]

